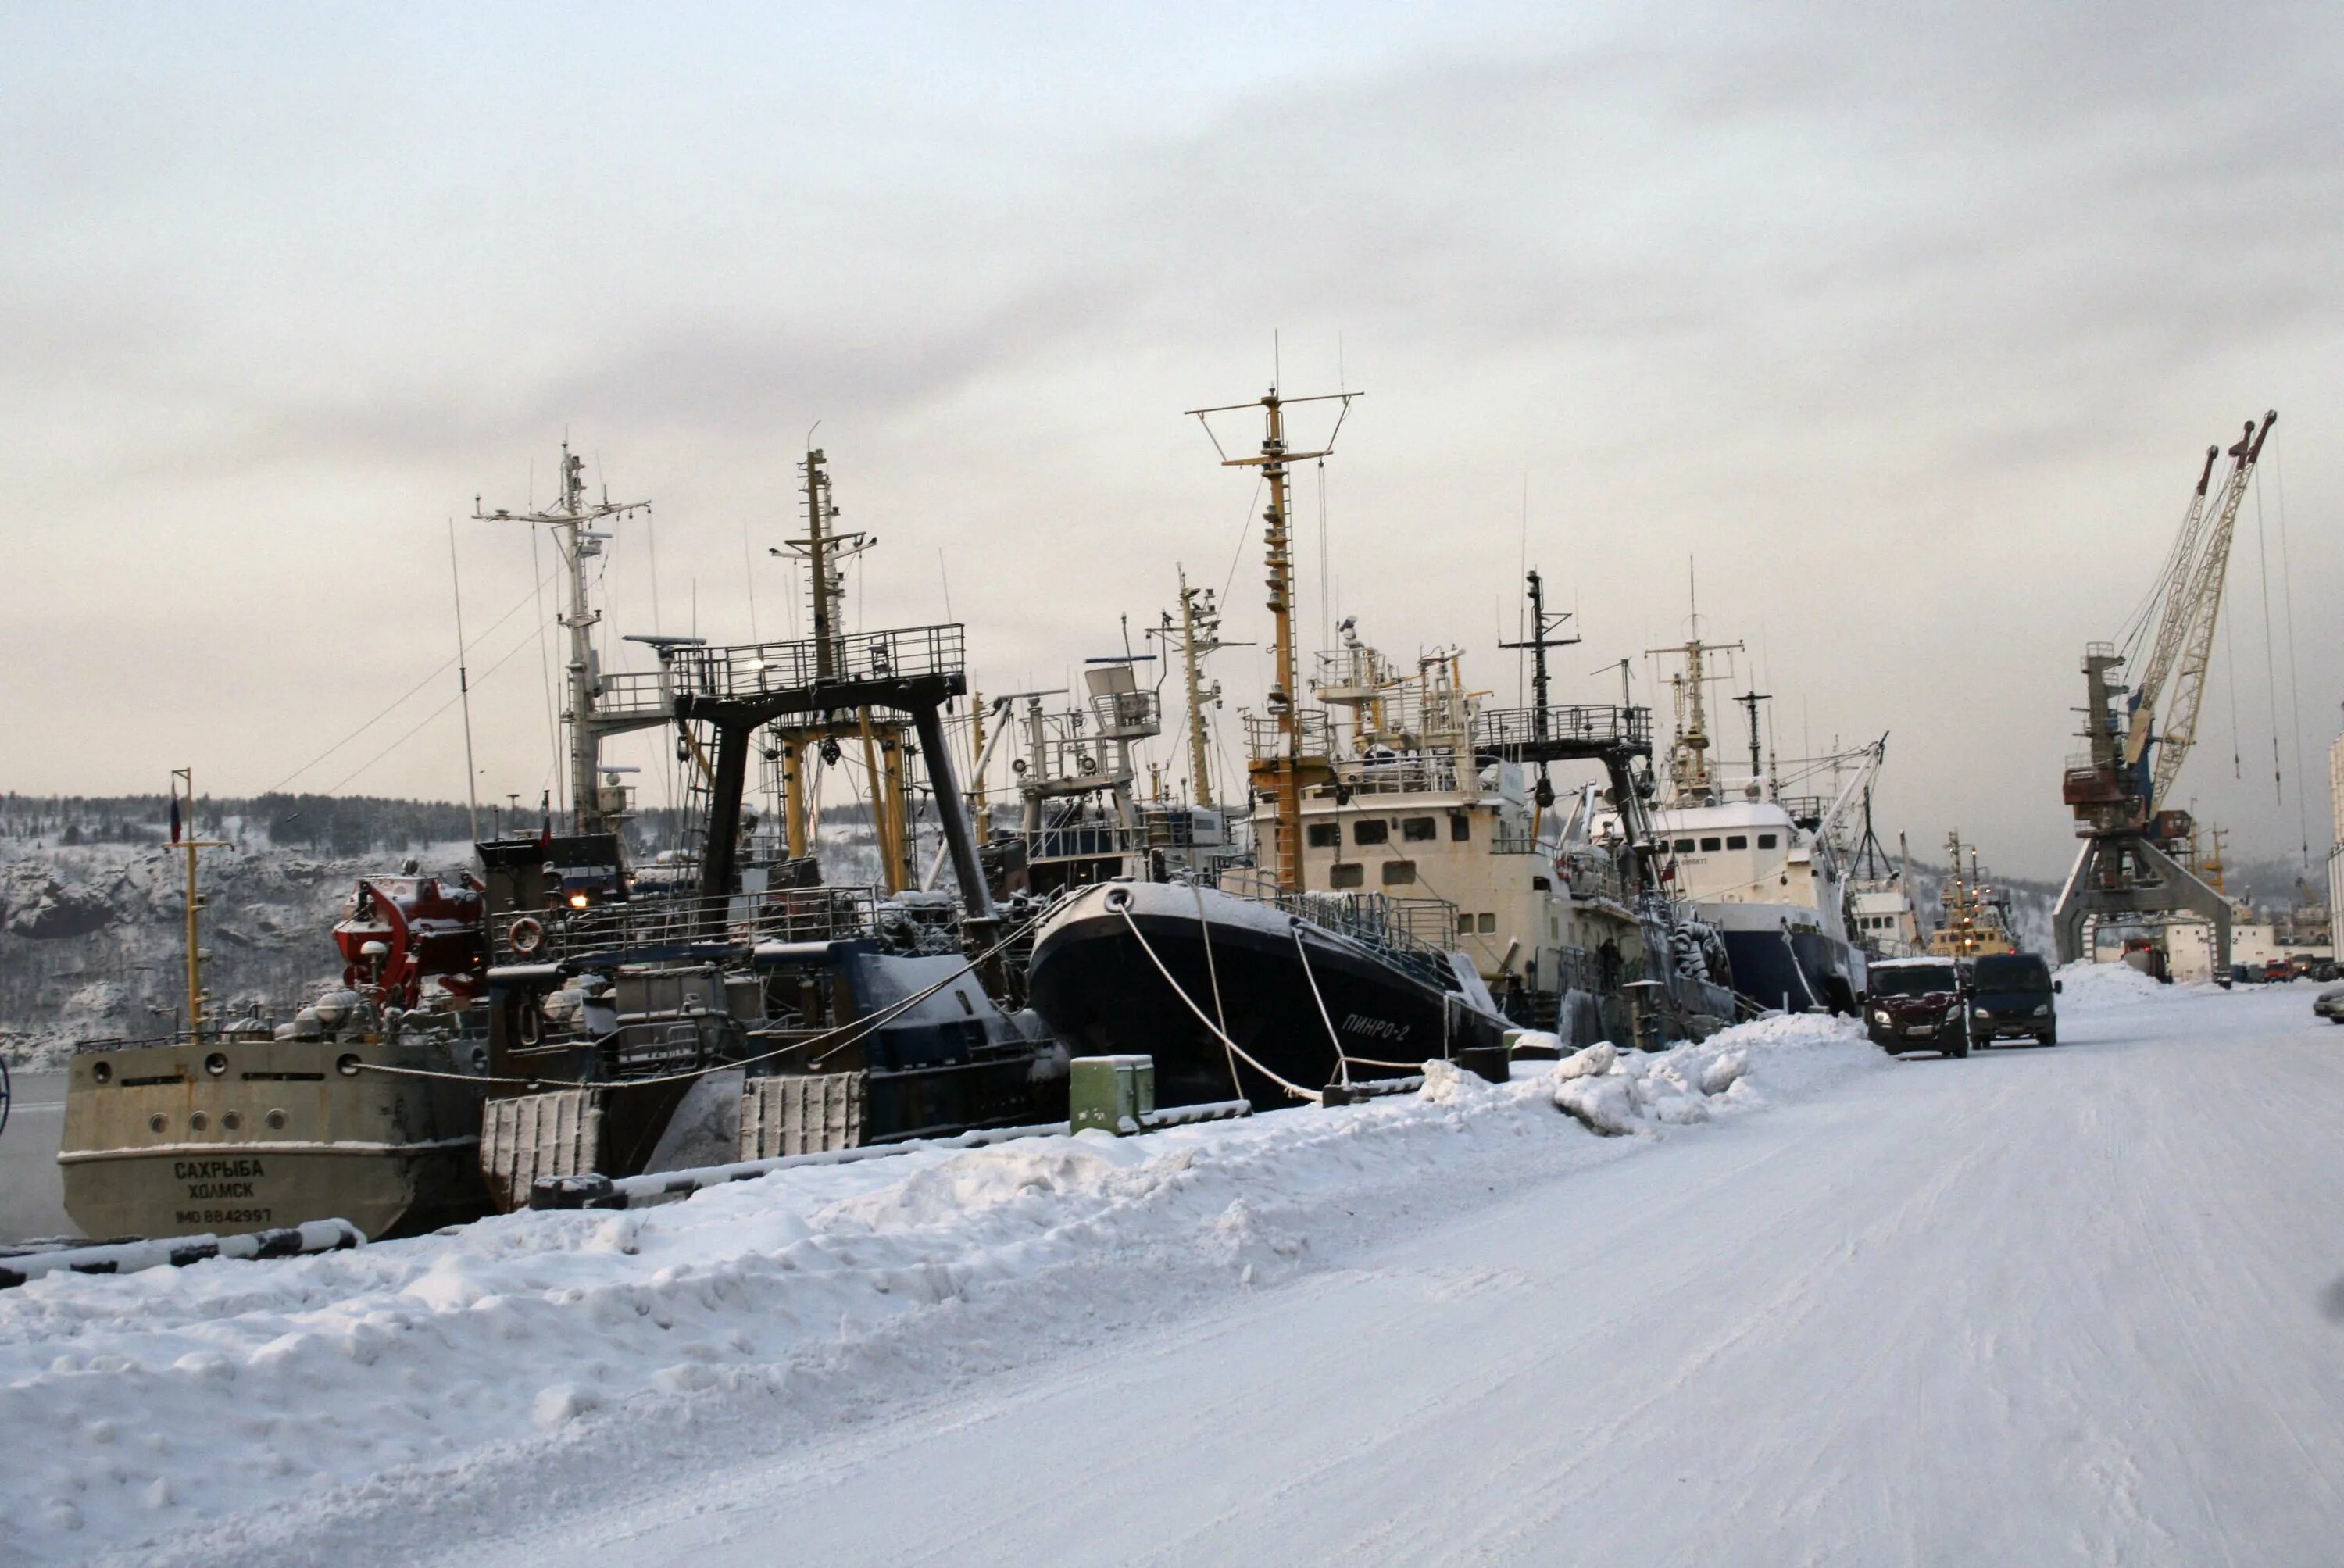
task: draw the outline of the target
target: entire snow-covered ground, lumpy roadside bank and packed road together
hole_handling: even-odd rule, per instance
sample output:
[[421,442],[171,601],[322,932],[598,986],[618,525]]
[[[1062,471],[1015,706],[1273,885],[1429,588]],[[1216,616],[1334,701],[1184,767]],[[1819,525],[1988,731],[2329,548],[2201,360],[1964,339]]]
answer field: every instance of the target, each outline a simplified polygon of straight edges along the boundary
[[2077,989],[33,1284],[0,1559],[2328,1561],[2344,1031]]

